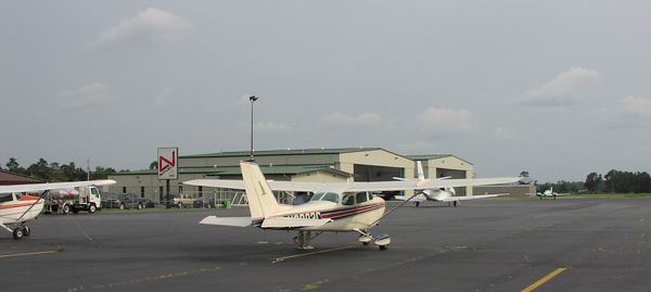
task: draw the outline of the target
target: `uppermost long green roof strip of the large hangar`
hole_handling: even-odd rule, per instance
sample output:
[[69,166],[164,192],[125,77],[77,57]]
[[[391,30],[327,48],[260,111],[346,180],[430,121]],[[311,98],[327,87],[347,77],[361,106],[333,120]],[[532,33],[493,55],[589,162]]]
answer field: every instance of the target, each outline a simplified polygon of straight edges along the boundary
[[[275,156],[275,155],[310,155],[310,154],[341,154],[361,151],[382,150],[382,148],[311,148],[311,149],[285,149],[285,150],[263,150],[254,151],[255,156]],[[182,155],[181,158],[199,157],[239,157],[248,156],[248,151],[228,151],[207,154]]]

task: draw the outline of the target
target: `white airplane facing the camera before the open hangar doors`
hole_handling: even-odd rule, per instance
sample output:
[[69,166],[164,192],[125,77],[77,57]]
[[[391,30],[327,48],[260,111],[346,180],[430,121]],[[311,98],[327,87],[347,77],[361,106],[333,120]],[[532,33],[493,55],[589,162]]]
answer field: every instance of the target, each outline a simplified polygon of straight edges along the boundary
[[[394,177],[394,178],[401,180],[401,181],[424,181],[425,175],[423,173],[423,165],[421,164],[420,161],[418,161],[416,163],[417,163],[417,169],[418,169],[417,170],[418,179],[405,179],[405,178],[397,178],[397,177]],[[438,178],[437,180],[446,180],[446,179],[449,179],[449,177],[442,177],[442,178]],[[460,201],[496,198],[496,196],[500,196],[500,195],[507,195],[508,193],[478,194],[478,195],[456,195],[456,194],[457,194],[457,192],[455,191],[455,188],[452,188],[452,187],[429,188],[429,189],[423,190],[422,192],[420,192],[419,194],[417,194],[414,198],[412,198],[410,200],[416,203],[417,207],[420,206],[421,203],[424,203],[426,201],[447,202],[448,204],[451,203],[454,206],[457,206],[457,204]],[[407,195],[396,195],[394,198],[396,200],[400,200],[400,201],[409,200],[409,198]]]

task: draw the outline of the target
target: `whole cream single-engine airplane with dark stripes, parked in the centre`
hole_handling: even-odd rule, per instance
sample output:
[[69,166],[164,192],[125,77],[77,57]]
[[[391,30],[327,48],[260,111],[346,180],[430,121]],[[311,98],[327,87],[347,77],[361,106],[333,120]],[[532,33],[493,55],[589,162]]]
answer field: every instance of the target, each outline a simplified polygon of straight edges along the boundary
[[[422,181],[378,182],[297,182],[266,180],[260,168],[253,162],[241,162],[243,180],[196,179],[183,183],[225,189],[244,189],[248,199],[251,217],[208,216],[204,225],[246,227],[261,229],[297,230],[294,241],[299,250],[311,250],[309,242],[323,232],[357,232],[359,242],[367,245],[373,241],[384,250],[391,243],[388,234],[373,237],[368,229],[391,214],[386,214],[384,200],[371,194],[373,191],[407,191],[462,186],[481,186],[518,181],[520,178],[447,179]],[[279,204],[272,190],[314,192],[311,200],[302,205]],[[417,192],[418,194],[418,192]],[[416,194],[414,194],[416,195]],[[316,232],[312,237],[311,232]]]

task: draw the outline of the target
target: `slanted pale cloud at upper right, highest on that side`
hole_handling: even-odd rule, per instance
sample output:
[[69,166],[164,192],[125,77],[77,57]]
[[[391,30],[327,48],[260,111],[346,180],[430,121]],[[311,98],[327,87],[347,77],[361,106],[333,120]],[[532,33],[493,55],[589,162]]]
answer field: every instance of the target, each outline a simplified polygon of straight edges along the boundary
[[599,73],[596,71],[572,67],[542,86],[525,92],[519,101],[531,106],[563,107],[576,103],[586,89],[598,82]]

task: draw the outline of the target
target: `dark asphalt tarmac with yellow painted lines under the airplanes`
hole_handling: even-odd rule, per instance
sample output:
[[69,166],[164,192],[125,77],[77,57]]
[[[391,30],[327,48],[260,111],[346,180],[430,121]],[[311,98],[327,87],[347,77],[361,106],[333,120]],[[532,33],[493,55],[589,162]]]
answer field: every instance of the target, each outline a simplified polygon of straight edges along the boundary
[[[484,200],[401,207],[373,233],[200,226],[206,215],[42,215],[0,233],[0,291],[650,291],[651,200]],[[525,290],[526,291],[526,290]]]

